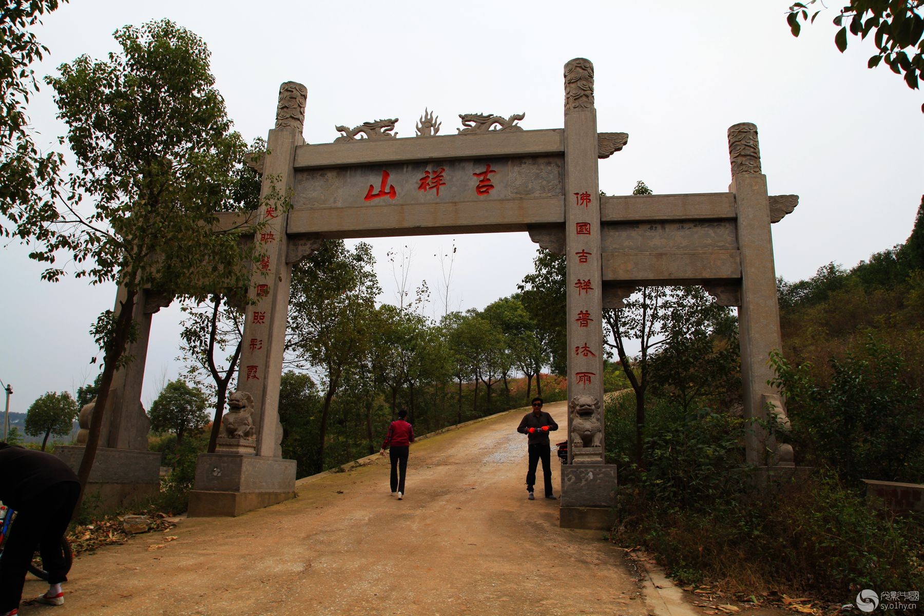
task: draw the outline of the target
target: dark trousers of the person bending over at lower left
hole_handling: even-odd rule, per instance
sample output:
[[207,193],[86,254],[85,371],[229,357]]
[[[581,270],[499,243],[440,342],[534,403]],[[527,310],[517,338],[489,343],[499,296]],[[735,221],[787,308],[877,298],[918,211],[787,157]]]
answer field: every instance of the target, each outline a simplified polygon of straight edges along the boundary
[[61,537],[67,531],[79,494],[78,483],[65,481],[43,490],[18,509],[0,558],[0,613],[19,607],[26,570],[36,548],[42,553],[48,583],[67,581]]

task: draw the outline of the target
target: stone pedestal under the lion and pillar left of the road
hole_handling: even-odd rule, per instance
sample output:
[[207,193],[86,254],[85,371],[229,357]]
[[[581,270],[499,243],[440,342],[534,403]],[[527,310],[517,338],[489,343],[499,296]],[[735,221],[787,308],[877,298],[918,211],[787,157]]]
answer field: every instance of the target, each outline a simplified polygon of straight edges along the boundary
[[295,460],[201,453],[189,517],[233,517],[295,497]]

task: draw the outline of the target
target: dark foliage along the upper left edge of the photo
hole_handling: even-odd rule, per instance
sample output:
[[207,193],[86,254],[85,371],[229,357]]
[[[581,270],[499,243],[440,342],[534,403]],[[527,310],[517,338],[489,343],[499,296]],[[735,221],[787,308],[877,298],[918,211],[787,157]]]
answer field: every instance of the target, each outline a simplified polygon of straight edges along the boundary
[[39,151],[26,116],[39,90],[30,65],[48,53],[30,29],[57,7],[58,0],[6,0],[0,10],[0,214],[12,223],[0,223],[0,236],[29,237],[30,219],[54,211],[58,198],[63,158]]

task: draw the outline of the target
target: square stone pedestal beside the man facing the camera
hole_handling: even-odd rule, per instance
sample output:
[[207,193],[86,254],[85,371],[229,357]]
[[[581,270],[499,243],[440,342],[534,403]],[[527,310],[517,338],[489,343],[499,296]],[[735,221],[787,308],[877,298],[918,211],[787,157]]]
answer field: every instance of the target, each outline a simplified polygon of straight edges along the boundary
[[561,505],[561,527],[610,530],[616,516],[616,466],[562,465]]

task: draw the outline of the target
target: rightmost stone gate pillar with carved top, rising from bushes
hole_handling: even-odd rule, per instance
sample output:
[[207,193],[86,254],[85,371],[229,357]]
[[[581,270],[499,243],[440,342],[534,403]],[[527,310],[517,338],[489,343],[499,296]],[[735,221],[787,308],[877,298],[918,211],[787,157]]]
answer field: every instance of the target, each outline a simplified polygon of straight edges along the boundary
[[[760,172],[757,127],[749,122],[728,129],[728,151],[732,163],[737,236],[741,254],[741,306],[738,326],[741,339],[741,384],[745,419],[766,419],[768,408],[785,417],[779,392],[767,384],[773,376],[767,365],[770,352],[782,346],[780,310],[773,269],[771,212],[767,176]],[[775,440],[757,424],[748,426],[748,463],[792,465],[791,449],[782,456]]]

